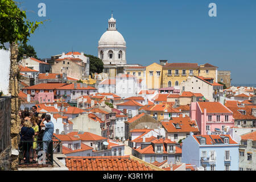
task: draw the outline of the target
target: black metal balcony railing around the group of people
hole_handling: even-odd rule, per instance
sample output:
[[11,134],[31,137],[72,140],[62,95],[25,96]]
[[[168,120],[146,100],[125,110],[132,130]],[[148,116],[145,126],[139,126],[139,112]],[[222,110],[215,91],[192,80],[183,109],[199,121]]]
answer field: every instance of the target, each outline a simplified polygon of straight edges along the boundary
[[[53,153],[57,153],[60,140],[55,136],[51,141],[20,141],[19,165],[23,166],[53,166]],[[56,150],[57,149],[57,150]]]

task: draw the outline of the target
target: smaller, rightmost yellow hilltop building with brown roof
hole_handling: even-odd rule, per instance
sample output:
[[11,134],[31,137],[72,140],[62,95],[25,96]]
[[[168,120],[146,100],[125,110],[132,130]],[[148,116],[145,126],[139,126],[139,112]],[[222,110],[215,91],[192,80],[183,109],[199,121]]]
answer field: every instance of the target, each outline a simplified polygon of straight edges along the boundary
[[205,78],[213,78],[213,81],[217,82],[217,68],[218,67],[215,67],[214,65],[211,65],[209,63],[201,64],[198,76],[203,76]]

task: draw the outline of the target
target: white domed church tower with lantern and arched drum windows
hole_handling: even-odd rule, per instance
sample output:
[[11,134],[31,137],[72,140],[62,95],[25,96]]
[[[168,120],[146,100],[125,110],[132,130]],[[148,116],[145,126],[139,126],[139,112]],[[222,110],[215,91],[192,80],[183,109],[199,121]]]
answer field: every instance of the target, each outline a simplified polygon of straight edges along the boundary
[[122,34],[117,31],[113,14],[108,24],[108,30],[98,42],[98,57],[104,64],[126,64],[126,42]]

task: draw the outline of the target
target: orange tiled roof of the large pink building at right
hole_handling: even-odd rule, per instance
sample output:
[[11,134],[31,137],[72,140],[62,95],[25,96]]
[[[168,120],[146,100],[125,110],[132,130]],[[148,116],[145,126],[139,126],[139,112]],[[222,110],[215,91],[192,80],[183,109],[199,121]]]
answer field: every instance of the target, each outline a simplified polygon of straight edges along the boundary
[[207,109],[207,113],[232,113],[228,107],[222,105],[220,102],[197,102],[201,112],[204,113],[204,109]]

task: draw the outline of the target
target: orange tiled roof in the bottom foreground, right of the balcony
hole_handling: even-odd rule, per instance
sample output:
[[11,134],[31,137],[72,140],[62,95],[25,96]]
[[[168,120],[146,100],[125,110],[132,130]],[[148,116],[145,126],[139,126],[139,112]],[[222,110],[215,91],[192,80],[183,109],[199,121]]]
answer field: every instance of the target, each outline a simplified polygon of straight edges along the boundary
[[129,156],[67,157],[69,171],[153,171]]

